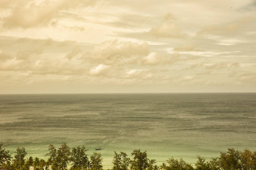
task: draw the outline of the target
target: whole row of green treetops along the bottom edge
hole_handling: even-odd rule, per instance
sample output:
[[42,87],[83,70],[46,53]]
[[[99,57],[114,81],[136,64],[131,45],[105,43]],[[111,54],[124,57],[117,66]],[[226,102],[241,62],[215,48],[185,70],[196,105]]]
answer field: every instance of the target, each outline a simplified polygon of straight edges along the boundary
[[[72,163],[71,170],[102,170],[102,155],[93,152],[88,160],[84,146],[72,148],[70,151],[68,145],[63,143],[61,147],[55,148],[53,145],[48,147],[48,160],[39,158],[26,158],[25,148],[17,148],[14,158],[9,151],[2,149],[0,145],[0,169],[9,170],[65,170],[68,163]],[[197,156],[195,168],[186,163],[182,158],[169,158],[167,163],[162,163],[159,167],[155,165],[155,159],[148,159],[147,152],[134,150],[131,153],[133,159],[130,160],[125,152],[114,152],[113,170],[255,170],[256,169],[256,151],[250,150],[238,151],[229,148],[227,152],[221,152],[219,158],[212,158],[208,162],[205,158]],[[130,168],[129,168],[130,165]]]

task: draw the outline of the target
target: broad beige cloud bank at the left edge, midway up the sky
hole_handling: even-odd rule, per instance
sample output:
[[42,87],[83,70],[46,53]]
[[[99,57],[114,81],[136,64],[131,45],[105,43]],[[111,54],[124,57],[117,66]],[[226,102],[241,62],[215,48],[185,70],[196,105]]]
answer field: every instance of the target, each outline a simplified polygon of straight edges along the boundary
[[[1,37],[1,41],[7,45],[0,52],[0,70],[7,73],[47,76],[81,75],[88,72],[87,65],[80,65],[81,61],[63,59],[63,56],[75,55],[78,43],[15,37]],[[86,48],[89,46],[83,46],[83,49]]]

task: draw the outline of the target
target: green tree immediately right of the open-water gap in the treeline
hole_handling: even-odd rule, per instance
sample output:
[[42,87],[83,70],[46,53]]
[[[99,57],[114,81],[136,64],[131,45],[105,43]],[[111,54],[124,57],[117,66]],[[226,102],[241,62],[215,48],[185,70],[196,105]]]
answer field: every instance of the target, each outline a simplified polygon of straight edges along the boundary
[[125,152],[120,152],[120,154],[114,152],[114,154],[113,170],[127,170],[131,162],[130,158],[127,158],[127,154]]

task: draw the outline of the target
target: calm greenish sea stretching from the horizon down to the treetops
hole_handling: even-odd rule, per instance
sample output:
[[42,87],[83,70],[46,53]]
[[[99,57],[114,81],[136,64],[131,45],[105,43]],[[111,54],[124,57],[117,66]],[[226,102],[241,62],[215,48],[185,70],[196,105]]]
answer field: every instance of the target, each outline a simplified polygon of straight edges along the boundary
[[0,143],[44,157],[48,145],[84,145],[112,167],[114,151],[160,164],[196,163],[228,148],[256,150],[256,94],[0,95]]

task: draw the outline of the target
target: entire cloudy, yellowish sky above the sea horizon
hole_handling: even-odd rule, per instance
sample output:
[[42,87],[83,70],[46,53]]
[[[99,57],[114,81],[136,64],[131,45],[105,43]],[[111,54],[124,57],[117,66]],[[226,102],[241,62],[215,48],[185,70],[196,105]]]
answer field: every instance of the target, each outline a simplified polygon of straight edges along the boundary
[[0,0],[0,94],[256,92],[255,0]]

